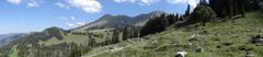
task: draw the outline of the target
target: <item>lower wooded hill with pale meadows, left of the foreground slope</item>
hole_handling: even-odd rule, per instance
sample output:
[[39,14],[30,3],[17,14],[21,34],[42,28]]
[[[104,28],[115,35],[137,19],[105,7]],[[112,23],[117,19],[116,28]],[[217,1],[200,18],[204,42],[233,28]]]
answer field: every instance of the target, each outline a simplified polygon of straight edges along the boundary
[[[32,33],[16,41],[15,43],[1,48],[0,56],[3,57],[71,57],[71,52],[81,49],[88,53],[90,37],[96,43],[103,43],[112,37],[112,30],[96,30],[87,34],[83,33],[60,33],[62,39],[56,36],[45,36],[47,31]],[[56,34],[55,34],[56,35]]]

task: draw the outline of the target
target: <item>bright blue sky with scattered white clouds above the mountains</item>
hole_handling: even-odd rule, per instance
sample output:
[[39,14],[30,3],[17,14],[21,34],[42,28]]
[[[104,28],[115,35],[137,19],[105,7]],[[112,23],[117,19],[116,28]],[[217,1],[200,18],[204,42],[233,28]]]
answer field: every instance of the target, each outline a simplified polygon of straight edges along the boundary
[[136,16],[152,11],[184,13],[198,0],[0,0],[0,34],[65,30],[84,25],[104,14]]

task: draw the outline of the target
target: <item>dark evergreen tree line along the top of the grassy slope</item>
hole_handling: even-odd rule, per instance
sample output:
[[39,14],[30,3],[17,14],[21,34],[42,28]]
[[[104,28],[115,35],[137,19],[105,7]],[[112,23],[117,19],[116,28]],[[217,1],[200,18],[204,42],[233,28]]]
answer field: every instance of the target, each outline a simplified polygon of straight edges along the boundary
[[142,26],[140,36],[162,32],[172,24],[182,27],[198,22],[205,25],[206,22],[219,19],[244,18],[245,12],[262,10],[261,3],[262,0],[201,0],[192,12],[187,5],[183,15],[163,13],[150,19]]

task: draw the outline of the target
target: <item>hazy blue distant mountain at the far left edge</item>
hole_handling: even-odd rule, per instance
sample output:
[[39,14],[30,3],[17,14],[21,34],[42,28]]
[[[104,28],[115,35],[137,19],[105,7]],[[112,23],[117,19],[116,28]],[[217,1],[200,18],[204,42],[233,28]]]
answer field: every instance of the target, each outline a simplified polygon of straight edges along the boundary
[[23,35],[22,33],[1,34],[0,35],[0,46],[9,44],[9,43],[18,39],[22,35]]

